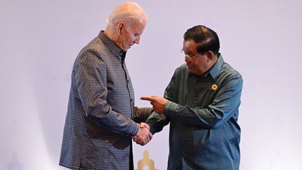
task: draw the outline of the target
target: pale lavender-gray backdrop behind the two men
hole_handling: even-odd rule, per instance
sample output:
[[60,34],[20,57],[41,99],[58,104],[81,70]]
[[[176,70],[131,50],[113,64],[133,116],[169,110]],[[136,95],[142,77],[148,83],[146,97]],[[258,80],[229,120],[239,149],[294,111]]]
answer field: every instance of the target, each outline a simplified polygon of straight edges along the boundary
[[[244,78],[240,169],[302,169],[302,2],[137,1],[148,13],[141,43],[127,53],[136,92],[162,96],[184,63],[182,35],[205,24],[220,36],[226,62]],[[0,1],[0,169],[63,169],[62,143],[71,69],[80,49],[122,1]],[[135,146],[166,169],[168,127]]]

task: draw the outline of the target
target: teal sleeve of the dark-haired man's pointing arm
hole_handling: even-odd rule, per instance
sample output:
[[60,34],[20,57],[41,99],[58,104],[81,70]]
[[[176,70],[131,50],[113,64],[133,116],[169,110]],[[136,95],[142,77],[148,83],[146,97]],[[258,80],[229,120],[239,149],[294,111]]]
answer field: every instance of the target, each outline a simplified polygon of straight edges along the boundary
[[[231,116],[236,114],[240,106],[240,94],[243,80],[240,76],[233,76],[222,83],[222,87],[215,95],[213,102],[206,107],[190,107],[168,101],[165,106],[165,115],[187,125],[195,125],[211,129],[220,127]],[[168,97],[170,88],[165,92]]]

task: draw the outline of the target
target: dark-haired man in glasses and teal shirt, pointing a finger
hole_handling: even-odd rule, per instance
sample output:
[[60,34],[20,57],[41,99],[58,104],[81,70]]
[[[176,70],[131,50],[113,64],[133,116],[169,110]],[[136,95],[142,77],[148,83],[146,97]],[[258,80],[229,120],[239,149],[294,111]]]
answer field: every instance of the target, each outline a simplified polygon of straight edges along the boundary
[[175,70],[164,98],[141,97],[154,108],[146,121],[152,134],[170,122],[168,169],[239,169],[243,79],[219,49],[212,29],[187,29],[186,64]]

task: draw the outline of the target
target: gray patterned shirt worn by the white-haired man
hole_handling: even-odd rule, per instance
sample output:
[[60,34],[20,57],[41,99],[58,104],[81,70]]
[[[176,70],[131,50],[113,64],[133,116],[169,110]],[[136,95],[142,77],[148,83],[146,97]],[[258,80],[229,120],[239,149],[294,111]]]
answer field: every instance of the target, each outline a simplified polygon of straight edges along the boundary
[[59,164],[129,169],[134,90],[123,52],[100,32],[75,59]]

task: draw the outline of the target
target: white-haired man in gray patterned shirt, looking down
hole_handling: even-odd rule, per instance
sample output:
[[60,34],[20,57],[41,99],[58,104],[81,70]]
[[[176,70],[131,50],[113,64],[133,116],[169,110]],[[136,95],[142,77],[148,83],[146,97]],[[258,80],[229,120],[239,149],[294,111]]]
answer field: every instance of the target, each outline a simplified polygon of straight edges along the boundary
[[[131,138],[152,138],[151,108],[134,107],[126,52],[140,42],[147,23],[134,2],[122,3],[108,25],[75,59],[59,165],[69,169],[134,169]],[[141,117],[142,123],[134,122]],[[143,117],[143,118],[142,118]]]

